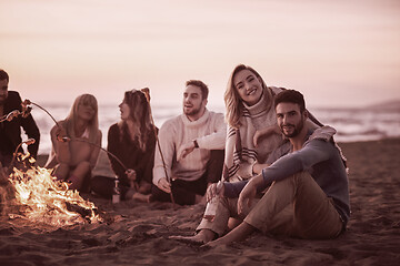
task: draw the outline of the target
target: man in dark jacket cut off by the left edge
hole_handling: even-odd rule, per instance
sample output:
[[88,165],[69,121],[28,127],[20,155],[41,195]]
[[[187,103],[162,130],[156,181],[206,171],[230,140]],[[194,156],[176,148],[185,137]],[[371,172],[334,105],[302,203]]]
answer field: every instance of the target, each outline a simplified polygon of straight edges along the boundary
[[[12,111],[22,112],[21,96],[16,91],[8,90],[9,75],[0,69],[0,163],[8,167],[11,163],[13,153],[22,142],[21,126],[29,139],[34,139],[34,143],[28,146],[31,156],[38,154],[40,132],[31,114],[28,116],[16,115],[11,121],[4,117]],[[19,149],[23,152],[22,147]]]

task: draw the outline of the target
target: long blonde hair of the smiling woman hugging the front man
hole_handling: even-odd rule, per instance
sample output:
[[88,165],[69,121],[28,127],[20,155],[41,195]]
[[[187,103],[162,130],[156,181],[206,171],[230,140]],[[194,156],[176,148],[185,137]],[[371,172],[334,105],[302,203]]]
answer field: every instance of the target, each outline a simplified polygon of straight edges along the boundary
[[242,115],[243,112],[243,100],[240,98],[234,83],[233,83],[233,79],[234,75],[242,71],[242,70],[249,70],[251,72],[254,73],[254,75],[259,79],[261,86],[263,90],[267,89],[266,82],[262,80],[261,75],[251,66],[244,65],[244,64],[239,64],[237,65],[229,80],[228,80],[228,85],[227,85],[227,90],[224,92],[224,103],[226,103],[226,120],[227,123],[232,126],[233,129],[239,129],[241,123],[240,123],[240,117]]

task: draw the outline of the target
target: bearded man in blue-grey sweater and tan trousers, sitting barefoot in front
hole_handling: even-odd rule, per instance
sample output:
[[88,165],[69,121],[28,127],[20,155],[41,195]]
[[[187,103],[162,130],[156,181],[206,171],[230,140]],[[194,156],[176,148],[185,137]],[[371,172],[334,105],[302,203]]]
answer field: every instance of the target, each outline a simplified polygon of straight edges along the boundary
[[[216,246],[242,241],[256,229],[310,239],[334,238],[344,231],[350,217],[349,184],[341,152],[332,140],[336,131],[306,126],[308,112],[298,91],[281,92],[274,106],[288,145],[276,150],[269,158],[273,163],[250,181],[223,183],[214,219],[203,218],[196,236],[176,239]],[[257,192],[268,185],[257,202]],[[212,186],[207,194],[216,193]],[[237,198],[237,204],[228,198]],[[234,213],[244,221],[213,241],[223,235],[229,215]]]

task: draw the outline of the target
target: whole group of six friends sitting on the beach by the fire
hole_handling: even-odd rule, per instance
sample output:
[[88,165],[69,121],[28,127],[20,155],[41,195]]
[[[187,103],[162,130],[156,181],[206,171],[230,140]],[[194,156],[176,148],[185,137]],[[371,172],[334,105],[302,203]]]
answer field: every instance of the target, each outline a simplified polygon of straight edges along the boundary
[[[0,117],[21,110],[20,95],[8,91],[8,83],[0,70]],[[244,64],[229,78],[224,116],[207,109],[208,94],[202,81],[187,81],[182,114],[157,129],[149,94],[127,91],[120,121],[108,131],[107,153],[97,100],[82,94],[51,129],[46,167],[70,188],[106,198],[112,197],[117,177],[123,200],[208,202],[217,208],[194,235],[171,237],[178,241],[214,246],[254,231],[300,238],[334,238],[344,232],[350,217],[346,158],[333,140],[336,130],[311,115],[303,95],[267,86]],[[36,140],[28,151],[37,156],[40,132],[32,115],[4,120],[3,167],[21,150],[21,127]]]

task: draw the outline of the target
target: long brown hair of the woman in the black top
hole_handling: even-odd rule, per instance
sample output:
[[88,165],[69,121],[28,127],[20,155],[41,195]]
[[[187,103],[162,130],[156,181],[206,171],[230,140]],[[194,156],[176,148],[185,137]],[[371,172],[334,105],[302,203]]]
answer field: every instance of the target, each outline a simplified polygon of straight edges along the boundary
[[[129,116],[133,121],[133,133],[136,133],[134,137],[138,140],[139,147],[140,150],[146,151],[146,144],[150,136],[153,135],[153,129],[150,120],[150,106],[146,100],[144,93],[138,90],[127,91],[124,93],[123,102],[129,105]],[[127,122],[121,120],[118,125],[121,133],[121,141],[123,137],[131,140],[128,134]]]

